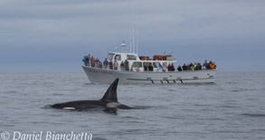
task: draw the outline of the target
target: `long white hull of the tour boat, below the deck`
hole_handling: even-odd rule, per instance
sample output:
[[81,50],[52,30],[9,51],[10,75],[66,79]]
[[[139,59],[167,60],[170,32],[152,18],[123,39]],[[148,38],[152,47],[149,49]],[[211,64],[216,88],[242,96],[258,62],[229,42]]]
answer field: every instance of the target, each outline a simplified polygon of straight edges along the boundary
[[188,70],[171,72],[147,72],[107,70],[82,66],[91,83],[168,84],[168,83],[213,83],[216,70]]

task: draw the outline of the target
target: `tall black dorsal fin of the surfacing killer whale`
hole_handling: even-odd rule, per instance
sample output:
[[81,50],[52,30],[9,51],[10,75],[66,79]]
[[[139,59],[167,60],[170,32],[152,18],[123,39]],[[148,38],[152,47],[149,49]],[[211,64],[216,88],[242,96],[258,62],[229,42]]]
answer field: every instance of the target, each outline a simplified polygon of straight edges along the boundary
[[101,100],[118,102],[117,87],[118,87],[118,79],[115,79],[112,82],[112,84],[109,86],[109,89],[106,91],[105,95],[103,96],[103,98],[101,98]]

